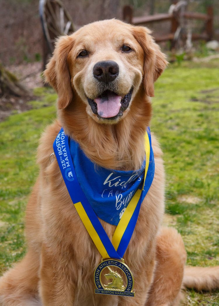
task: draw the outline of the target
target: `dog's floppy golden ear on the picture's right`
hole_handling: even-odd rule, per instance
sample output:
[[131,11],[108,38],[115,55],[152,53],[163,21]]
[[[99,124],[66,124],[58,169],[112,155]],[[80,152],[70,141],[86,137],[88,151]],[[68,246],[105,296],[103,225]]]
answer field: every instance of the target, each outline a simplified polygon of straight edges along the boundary
[[166,55],[160,50],[145,27],[133,27],[133,35],[144,50],[144,89],[149,97],[154,96],[154,82],[167,65]]

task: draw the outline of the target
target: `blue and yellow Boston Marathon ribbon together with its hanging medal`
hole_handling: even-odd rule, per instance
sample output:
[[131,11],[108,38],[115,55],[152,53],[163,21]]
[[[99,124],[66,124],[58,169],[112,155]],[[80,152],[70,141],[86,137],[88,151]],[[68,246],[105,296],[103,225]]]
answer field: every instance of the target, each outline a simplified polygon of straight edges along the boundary
[[[109,237],[107,236],[97,215],[95,214],[93,208],[91,207],[86,196],[84,195],[82,188],[79,185],[74,165],[71,159],[69,138],[68,136],[65,135],[63,128],[60,130],[59,134],[56,137],[56,140],[54,141],[53,149],[63,176],[63,180],[71,197],[71,200],[74,203],[74,206],[86,230],[88,231],[91,239],[96,245],[102,258],[114,259],[114,260],[105,260],[96,268],[94,274],[94,281],[97,289],[95,289],[95,293],[129,296],[130,294],[128,293],[133,293],[132,292],[133,277],[129,268],[125,265],[125,263],[123,263],[122,257],[132,237],[137,222],[137,218],[139,215],[141,203],[144,200],[144,197],[147,194],[154,177],[154,157],[151,146],[151,134],[149,128],[145,133],[146,165],[145,165],[145,174],[144,174],[144,184],[141,189],[138,189],[135,192],[128,206],[126,207],[125,212],[123,213],[116,227],[116,230],[113,234],[112,242],[109,240]],[[124,273],[127,270],[128,274],[125,273],[127,278],[127,286],[121,285],[122,281],[120,282],[120,285],[114,284],[110,286],[109,284],[111,283],[108,283],[107,285],[103,284],[101,281],[102,269],[100,268],[102,264],[103,264],[102,268],[107,266],[112,275],[114,275],[117,272],[113,271],[110,268],[110,266],[115,266],[121,269],[121,271],[123,271]],[[122,268],[121,265],[123,265]],[[98,274],[97,271],[100,271],[99,275],[97,275]],[[130,278],[129,274],[131,275]],[[97,275],[96,278],[95,275]],[[112,275],[111,279],[113,278]],[[121,277],[120,274],[118,275],[119,277]],[[114,275],[115,278],[118,278],[118,275],[117,276]],[[131,294],[130,296],[134,296],[134,293]]]

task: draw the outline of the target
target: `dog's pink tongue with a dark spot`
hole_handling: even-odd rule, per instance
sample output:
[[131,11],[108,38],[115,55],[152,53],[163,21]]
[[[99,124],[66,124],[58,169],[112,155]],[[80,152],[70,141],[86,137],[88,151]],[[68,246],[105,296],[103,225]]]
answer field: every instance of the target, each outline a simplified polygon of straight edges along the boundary
[[121,107],[121,96],[112,92],[107,92],[101,98],[96,98],[94,101],[97,103],[97,113],[102,118],[111,118],[119,113]]

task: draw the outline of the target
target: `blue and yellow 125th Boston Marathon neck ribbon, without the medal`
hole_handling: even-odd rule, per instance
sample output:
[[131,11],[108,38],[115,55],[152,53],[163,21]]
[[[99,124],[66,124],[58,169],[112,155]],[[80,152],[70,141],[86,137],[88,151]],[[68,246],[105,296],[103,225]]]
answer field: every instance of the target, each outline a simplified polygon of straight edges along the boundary
[[[74,203],[74,206],[87,232],[96,245],[102,258],[121,259],[132,237],[141,203],[144,200],[144,197],[147,194],[154,177],[154,156],[149,128],[145,133],[146,166],[144,173],[144,184],[141,189],[138,189],[135,192],[134,196],[126,207],[125,212],[122,215],[121,220],[119,221],[113,234],[112,242],[107,236],[102,224],[100,223],[97,215],[95,214],[79,185],[71,159],[68,136],[64,134],[63,129],[61,129],[57,135],[53,148],[71,200]],[[63,151],[65,156],[68,157],[68,166],[63,166]],[[71,172],[71,178],[68,178],[66,175],[67,170],[68,173]]]

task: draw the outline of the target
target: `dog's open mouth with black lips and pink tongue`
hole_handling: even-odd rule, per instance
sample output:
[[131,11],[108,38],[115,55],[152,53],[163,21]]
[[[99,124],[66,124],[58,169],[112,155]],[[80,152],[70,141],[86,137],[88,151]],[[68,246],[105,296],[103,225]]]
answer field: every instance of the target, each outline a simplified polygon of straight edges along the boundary
[[106,90],[94,100],[87,98],[88,103],[94,114],[99,118],[104,119],[116,119],[123,115],[123,112],[129,106],[129,102],[132,97],[131,88],[130,91],[124,95],[117,95],[115,92]]

